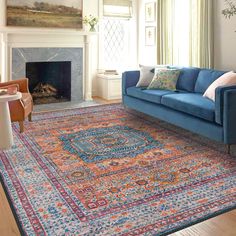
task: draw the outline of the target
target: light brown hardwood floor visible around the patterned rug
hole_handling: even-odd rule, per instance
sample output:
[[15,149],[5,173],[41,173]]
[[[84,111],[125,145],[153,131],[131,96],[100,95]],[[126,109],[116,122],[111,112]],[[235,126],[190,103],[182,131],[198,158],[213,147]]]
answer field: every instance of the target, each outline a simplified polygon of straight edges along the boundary
[[[100,104],[110,101],[95,98]],[[113,103],[120,100],[113,101]],[[0,184],[0,236],[19,236],[20,232],[12,214],[8,200]],[[227,212],[217,217],[193,225],[171,236],[236,236],[236,210]]]

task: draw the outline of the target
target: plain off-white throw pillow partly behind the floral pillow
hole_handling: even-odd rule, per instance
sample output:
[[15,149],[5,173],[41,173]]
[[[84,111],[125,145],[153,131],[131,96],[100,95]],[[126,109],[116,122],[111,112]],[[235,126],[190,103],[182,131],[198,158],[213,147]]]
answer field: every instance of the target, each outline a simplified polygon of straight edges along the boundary
[[139,65],[140,67],[140,77],[136,87],[147,87],[154,76],[155,68],[166,68],[166,66],[158,65],[158,66],[143,66]]

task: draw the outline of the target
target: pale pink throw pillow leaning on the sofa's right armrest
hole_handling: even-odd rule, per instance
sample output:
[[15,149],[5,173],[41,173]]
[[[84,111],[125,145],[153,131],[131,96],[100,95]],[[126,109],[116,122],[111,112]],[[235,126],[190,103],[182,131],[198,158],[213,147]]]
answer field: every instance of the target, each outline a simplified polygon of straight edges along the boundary
[[207,97],[215,101],[215,90],[219,86],[231,86],[236,85],[236,73],[233,71],[227,72],[216,79],[203,94],[203,97]]

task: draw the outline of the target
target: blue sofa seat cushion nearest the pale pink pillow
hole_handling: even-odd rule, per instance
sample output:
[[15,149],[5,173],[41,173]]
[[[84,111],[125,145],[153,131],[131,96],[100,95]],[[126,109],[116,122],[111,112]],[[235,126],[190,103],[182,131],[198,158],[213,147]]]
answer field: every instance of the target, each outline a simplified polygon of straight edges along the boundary
[[161,104],[211,122],[215,121],[215,103],[201,94],[167,94],[162,97]]

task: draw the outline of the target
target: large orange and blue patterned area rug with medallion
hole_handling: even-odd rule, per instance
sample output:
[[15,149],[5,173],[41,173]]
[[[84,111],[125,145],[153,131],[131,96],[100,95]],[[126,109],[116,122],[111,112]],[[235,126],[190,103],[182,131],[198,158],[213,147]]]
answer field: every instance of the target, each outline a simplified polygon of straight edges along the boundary
[[0,152],[25,235],[166,235],[236,207],[236,158],[120,104],[38,113]]

